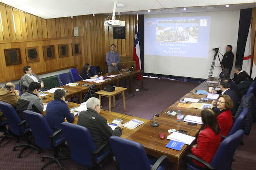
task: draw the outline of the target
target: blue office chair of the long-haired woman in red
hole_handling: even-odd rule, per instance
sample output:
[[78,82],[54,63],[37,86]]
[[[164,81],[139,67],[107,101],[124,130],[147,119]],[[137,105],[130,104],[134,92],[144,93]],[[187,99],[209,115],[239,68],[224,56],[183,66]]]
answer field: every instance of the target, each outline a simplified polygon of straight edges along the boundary
[[[197,156],[192,154],[186,156],[186,162],[188,162],[188,159],[192,158],[204,164],[209,170],[230,170],[232,166],[234,152],[242,141],[243,136],[244,131],[240,129],[224,139],[221,142],[217,152],[215,153],[211,163],[205,162],[201,158],[198,158]],[[198,168],[193,167],[189,163],[186,164],[189,170],[199,170]]]

